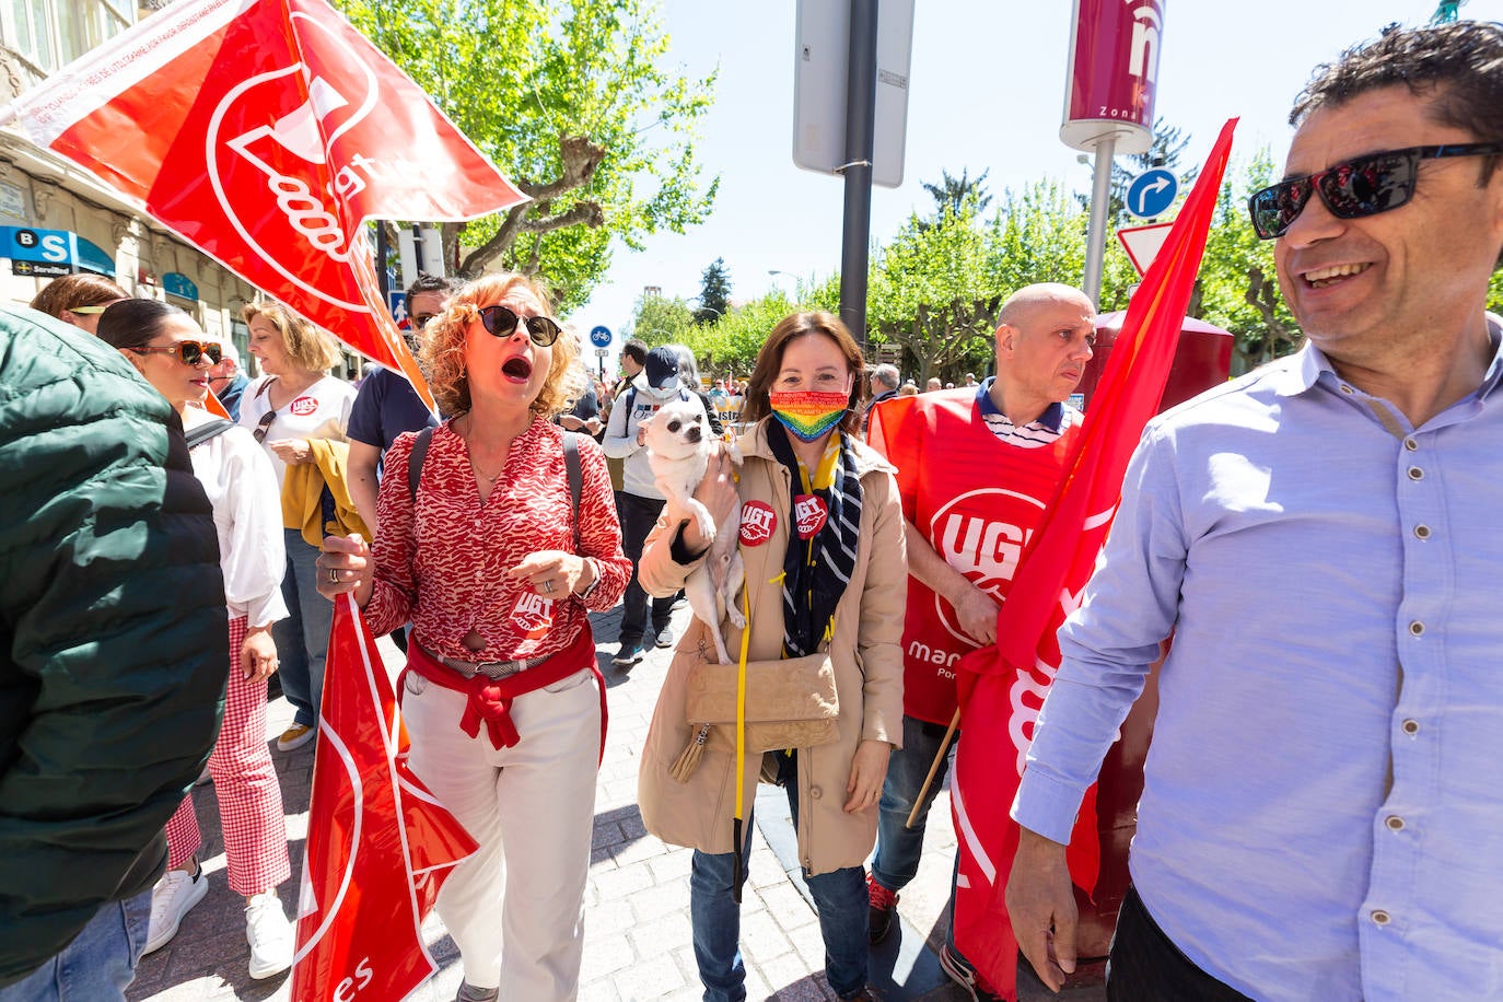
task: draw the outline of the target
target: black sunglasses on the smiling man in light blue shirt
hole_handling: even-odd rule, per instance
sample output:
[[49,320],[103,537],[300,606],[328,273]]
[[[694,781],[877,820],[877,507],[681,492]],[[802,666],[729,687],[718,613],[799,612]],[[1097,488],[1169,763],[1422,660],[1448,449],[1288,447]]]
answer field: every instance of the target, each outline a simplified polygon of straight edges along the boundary
[[1258,237],[1272,240],[1288,231],[1305,210],[1312,192],[1338,219],[1362,219],[1398,209],[1414,197],[1419,162],[1443,156],[1492,156],[1503,153],[1503,143],[1452,143],[1411,146],[1357,156],[1315,174],[1279,182],[1252,195],[1247,212]]

